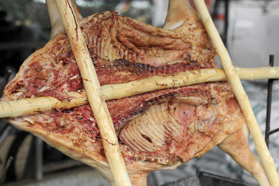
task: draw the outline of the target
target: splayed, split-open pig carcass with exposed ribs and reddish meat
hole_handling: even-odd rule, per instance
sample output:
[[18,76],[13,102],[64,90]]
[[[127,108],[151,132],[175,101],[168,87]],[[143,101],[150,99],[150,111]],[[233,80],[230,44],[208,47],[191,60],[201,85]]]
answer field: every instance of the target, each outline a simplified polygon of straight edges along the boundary
[[[169,1],[163,29],[114,12],[80,18],[101,85],[154,75],[216,68],[215,52],[189,1]],[[70,100],[84,88],[66,33],[24,61],[1,100],[52,96]],[[250,151],[248,129],[239,104],[225,82],[168,88],[107,101],[133,185],[146,185],[158,169],[174,169],[218,145],[269,185],[262,165]],[[66,155],[96,167],[112,185],[100,133],[89,105],[9,118]]]

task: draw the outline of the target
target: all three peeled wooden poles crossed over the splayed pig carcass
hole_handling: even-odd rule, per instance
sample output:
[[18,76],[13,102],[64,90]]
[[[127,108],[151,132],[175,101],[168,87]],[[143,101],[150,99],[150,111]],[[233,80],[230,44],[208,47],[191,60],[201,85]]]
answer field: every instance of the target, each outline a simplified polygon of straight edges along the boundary
[[[187,86],[190,84],[199,84],[202,82],[225,81],[228,79],[231,83],[236,98],[239,100],[239,104],[248,123],[252,137],[255,141],[257,153],[259,153],[259,157],[264,164],[264,169],[269,178],[269,182],[271,185],[279,185],[278,174],[276,172],[273,159],[266,147],[266,144],[264,143],[262,133],[259,129],[259,126],[257,125],[257,121],[255,120],[255,116],[252,112],[248,97],[239,80],[239,78],[249,80],[278,78],[278,68],[234,68],[232,61],[229,58],[229,54],[227,53],[227,49],[225,49],[225,46],[223,45],[222,40],[220,40],[220,36],[213,25],[204,1],[194,0],[194,2],[197,10],[199,11],[199,15],[204,22],[204,25],[206,26],[206,30],[209,33],[213,45],[216,47],[216,52],[218,53],[218,56],[223,64],[225,73],[220,69],[195,70],[192,72],[181,72],[179,74],[166,77],[151,77],[126,84],[105,85],[100,87],[88,49],[86,48],[80,27],[78,26],[75,10],[73,10],[71,1],[56,0],[56,6],[61,15],[63,25],[66,28],[70,44],[75,54],[75,59],[77,60],[77,65],[80,68],[82,78],[86,79],[84,80],[86,93],[85,91],[81,91],[80,93],[68,93],[68,95],[73,96],[73,99],[70,102],[66,100],[59,101],[52,97],[0,102],[0,117],[16,117],[27,114],[36,114],[40,111],[48,111],[54,108],[68,109],[89,102],[100,128],[105,154],[111,166],[116,185],[130,185],[128,173],[126,171],[125,163],[123,162],[123,157],[119,150],[118,140],[114,132],[112,119],[110,117],[110,113],[107,110],[105,100],[125,98],[130,95],[156,91],[163,88]],[[237,75],[237,73],[239,75]],[[146,86],[144,87],[144,85]],[[123,88],[128,90],[127,93],[125,93],[126,91],[123,91]],[[116,90],[121,91],[116,93]],[[86,98],[86,94],[88,98]],[[47,99],[47,105],[40,105],[40,102],[42,102],[43,99]],[[22,104],[22,102],[24,102],[24,104]],[[27,107],[27,104],[29,104],[30,107]],[[20,107],[20,105],[24,105],[24,108]],[[25,108],[28,108],[28,110]]]

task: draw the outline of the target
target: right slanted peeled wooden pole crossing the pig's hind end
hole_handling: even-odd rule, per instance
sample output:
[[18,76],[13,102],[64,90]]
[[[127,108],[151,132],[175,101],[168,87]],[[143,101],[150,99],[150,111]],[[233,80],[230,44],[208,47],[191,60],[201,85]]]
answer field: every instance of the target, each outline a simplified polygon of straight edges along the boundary
[[239,101],[239,105],[243,111],[243,115],[246,118],[247,125],[252,135],[252,139],[255,142],[255,148],[259,154],[260,159],[262,160],[264,171],[266,171],[266,176],[269,178],[271,185],[279,185],[278,173],[276,172],[273,158],[269,153],[264,141],[264,137],[262,137],[262,131],[257,124],[255,115],[248,100],[248,96],[241,85],[239,76],[236,74],[236,70],[232,65],[232,60],[229,57],[229,53],[227,52],[227,49],[223,44],[223,41],[221,40],[218,31],[213,24],[213,21],[211,20],[211,16],[209,15],[209,11],[207,10],[204,1],[194,0],[194,3],[202,19],[202,22],[204,23],[206,31],[211,38],[213,46],[216,49],[227,78],[229,79],[229,82],[232,86],[232,90],[236,95],[236,99]]

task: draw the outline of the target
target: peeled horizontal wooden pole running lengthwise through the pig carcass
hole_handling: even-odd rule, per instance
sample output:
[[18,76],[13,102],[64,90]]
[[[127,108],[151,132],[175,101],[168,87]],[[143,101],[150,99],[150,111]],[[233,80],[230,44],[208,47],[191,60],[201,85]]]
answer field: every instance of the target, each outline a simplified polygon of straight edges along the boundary
[[[278,79],[279,67],[269,68],[236,68],[240,79]],[[177,88],[204,82],[227,81],[222,69],[208,68],[179,72],[176,75],[153,76],[124,84],[107,84],[101,86],[101,92],[105,100],[126,98],[131,95],[162,90],[165,88]],[[0,102],[0,118],[26,116],[38,114],[52,109],[70,109],[72,107],[88,104],[85,91],[67,93],[68,100],[57,100],[53,97],[26,98],[9,102]]]

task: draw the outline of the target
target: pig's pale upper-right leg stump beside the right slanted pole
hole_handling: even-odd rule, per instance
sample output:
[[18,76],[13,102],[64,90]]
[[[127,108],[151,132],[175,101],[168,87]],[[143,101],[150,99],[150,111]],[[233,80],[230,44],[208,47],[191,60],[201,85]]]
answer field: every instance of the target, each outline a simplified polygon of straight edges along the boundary
[[191,6],[190,0],[169,0],[169,8],[167,9],[167,18],[165,20],[164,29],[179,31],[188,30],[186,26],[197,22],[197,12]]

